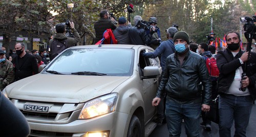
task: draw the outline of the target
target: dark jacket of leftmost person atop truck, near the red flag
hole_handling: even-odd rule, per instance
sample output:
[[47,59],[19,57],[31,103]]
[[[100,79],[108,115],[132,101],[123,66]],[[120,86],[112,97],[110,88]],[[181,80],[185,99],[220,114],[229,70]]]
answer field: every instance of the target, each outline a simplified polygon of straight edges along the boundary
[[96,38],[94,40],[95,44],[103,38],[103,33],[106,29],[111,29],[113,31],[116,29],[116,25],[110,19],[101,18],[94,23],[94,29],[96,34]]

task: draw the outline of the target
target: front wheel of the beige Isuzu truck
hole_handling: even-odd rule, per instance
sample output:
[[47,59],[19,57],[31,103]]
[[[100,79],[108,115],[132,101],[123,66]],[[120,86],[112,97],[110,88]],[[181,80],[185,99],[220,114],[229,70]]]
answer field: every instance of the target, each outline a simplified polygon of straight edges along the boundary
[[127,132],[127,137],[141,137],[142,129],[141,123],[137,116],[133,116],[129,125],[129,129]]

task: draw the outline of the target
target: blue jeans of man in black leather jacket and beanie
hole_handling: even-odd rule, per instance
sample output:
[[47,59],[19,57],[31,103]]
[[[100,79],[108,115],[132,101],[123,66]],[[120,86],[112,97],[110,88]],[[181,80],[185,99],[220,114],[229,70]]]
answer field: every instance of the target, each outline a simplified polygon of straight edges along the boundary
[[169,136],[180,136],[182,119],[185,122],[187,136],[199,136],[199,118],[201,103],[181,104],[166,98],[165,116]]

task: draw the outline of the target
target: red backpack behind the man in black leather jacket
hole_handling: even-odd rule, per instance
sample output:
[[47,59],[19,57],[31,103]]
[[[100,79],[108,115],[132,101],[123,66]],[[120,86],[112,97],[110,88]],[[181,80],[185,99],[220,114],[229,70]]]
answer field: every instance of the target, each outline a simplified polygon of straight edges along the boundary
[[211,81],[217,80],[219,77],[219,69],[215,57],[206,58],[206,67],[208,69]]

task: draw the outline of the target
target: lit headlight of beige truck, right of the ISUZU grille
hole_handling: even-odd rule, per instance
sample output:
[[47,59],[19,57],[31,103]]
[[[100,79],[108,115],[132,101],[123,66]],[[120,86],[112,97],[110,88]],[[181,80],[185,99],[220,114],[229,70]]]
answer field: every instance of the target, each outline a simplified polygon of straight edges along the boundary
[[113,93],[86,102],[78,119],[91,119],[114,112],[117,96],[117,93]]

